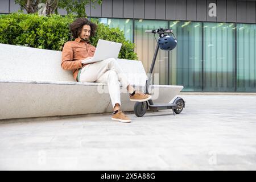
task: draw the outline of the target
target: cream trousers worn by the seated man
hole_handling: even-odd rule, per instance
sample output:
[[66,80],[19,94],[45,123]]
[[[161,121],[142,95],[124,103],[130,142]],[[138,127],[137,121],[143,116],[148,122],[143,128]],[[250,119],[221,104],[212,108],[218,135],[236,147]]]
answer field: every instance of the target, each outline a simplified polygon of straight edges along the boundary
[[121,105],[118,81],[122,83],[123,88],[127,88],[129,85],[125,73],[114,58],[86,65],[81,70],[79,81],[107,84],[113,107],[115,104]]

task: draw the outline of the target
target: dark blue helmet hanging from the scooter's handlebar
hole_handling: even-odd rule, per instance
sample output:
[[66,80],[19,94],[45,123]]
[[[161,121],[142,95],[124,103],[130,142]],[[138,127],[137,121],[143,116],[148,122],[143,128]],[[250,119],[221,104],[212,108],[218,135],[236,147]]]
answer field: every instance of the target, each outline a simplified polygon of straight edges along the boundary
[[162,37],[158,38],[158,45],[162,50],[171,51],[176,47],[177,40],[174,36],[162,35]]

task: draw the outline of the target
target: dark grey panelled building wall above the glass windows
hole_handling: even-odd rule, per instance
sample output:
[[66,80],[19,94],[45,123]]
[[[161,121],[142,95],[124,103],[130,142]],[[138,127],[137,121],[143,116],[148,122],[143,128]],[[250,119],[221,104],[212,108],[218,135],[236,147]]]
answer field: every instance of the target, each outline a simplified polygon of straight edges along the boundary
[[[216,17],[208,14],[212,2],[217,5]],[[14,0],[0,1],[0,13],[18,10]],[[102,5],[86,7],[86,13],[92,17],[231,23],[256,23],[255,10],[255,0],[103,0]],[[59,13],[67,14],[65,10]]]

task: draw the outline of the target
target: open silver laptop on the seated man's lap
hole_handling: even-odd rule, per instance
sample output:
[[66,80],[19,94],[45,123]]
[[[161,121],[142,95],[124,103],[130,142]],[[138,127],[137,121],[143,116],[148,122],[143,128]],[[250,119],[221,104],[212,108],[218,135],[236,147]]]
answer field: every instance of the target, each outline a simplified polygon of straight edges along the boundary
[[92,59],[82,61],[83,64],[94,63],[109,58],[117,59],[122,44],[99,39]]

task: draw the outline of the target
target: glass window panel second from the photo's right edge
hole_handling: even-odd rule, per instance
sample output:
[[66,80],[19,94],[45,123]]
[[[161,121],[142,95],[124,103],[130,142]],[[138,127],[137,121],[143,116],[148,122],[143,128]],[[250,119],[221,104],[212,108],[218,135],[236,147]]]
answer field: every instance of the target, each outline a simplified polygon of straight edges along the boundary
[[206,92],[235,90],[235,24],[203,23]]

